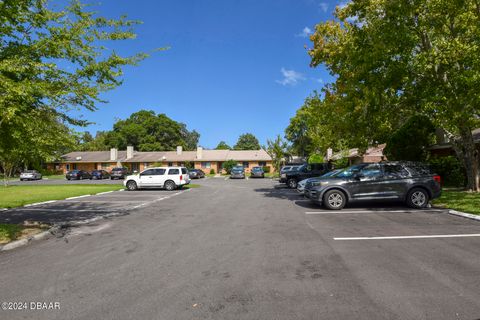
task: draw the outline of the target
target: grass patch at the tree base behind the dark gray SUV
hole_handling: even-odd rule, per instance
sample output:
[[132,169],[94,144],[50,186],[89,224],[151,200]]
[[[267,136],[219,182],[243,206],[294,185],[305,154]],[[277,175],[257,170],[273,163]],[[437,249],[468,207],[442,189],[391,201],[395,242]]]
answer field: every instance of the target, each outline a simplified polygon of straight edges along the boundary
[[480,215],[480,193],[444,190],[433,205]]

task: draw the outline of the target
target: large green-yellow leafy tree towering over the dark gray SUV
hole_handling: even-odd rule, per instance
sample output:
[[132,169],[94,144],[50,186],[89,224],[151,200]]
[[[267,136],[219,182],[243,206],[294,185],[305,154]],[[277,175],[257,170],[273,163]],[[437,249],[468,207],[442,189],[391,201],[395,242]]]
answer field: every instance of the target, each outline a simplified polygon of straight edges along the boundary
[[316,26],[312,66],[325,65],[339,117],[378,141],[414,115],[448,132],[480,190],[480,14],[475,0],[353,0]]

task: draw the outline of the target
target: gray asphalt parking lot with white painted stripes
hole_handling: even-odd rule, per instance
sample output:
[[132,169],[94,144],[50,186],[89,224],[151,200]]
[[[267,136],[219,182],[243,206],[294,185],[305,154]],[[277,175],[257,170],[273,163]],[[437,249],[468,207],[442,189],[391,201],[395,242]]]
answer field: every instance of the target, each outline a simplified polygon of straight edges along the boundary
[[327,211],[268,179],[194,183],[39,208],[125,214],[1,252],[2,301],[61,309],[0,318],[480,318],[479,222],[401,204]]

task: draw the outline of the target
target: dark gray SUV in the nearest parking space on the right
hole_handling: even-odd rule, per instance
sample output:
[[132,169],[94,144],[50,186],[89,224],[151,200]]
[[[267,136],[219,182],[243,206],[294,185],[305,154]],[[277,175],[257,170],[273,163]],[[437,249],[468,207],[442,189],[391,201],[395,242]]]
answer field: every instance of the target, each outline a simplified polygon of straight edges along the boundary
[[425,208],[440,194],[440,176],[415,162],[358,164],[305,185],[310,200],[332,210],[365,200],[405,201],[412,208]]

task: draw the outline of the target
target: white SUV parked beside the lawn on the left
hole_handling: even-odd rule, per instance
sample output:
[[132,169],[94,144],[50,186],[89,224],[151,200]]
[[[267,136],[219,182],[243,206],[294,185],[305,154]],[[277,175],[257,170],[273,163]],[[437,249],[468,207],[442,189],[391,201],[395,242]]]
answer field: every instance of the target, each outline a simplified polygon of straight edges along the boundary
[[165,188],[172,191],[189,183],[190,176],[184,167],[148,168],[139,174],[127,176],[123,181],[129,191],[141,188]]

